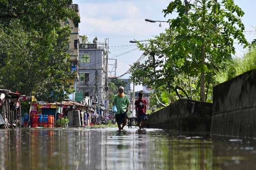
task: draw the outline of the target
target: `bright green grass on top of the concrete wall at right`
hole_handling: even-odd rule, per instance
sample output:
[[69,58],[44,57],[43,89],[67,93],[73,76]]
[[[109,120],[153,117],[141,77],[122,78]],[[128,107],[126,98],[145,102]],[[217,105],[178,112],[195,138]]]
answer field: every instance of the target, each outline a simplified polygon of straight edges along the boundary
[[247,71],[256,69],[256,47],[248,51],[243,58],[235,57],[227,61],[226,64],[227,69],[216,73],[215,80],[217,83],[223,83]]

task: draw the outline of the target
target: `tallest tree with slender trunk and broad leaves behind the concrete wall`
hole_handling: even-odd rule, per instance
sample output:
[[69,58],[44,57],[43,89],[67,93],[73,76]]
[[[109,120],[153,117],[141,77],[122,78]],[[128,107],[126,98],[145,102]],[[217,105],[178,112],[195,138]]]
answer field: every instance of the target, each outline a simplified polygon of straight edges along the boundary
[[233,0],[193,0],[188,5],[183,0],[174,0],[163,10],[164,16],[175,11],[178,17],[169,19],[170,29],[177,32],[172,48],[179,54],[175,56],[177,60],[188,61],[190,74],[191,70],[199,70],[200,101],[204,101],[205,75],[231,58],[235,39],[248,45],[241,21],[244,12]]

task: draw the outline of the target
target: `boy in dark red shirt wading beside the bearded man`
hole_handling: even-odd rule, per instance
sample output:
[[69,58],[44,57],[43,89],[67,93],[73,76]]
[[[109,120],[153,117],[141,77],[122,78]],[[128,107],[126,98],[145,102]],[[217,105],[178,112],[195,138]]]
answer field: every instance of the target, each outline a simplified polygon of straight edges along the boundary
[[146,100],[142,99],[143,93],[139,92],[139,99],[135,101],[135,112],[138,117],[138,125],[139,128],[143,129],[146,124]]

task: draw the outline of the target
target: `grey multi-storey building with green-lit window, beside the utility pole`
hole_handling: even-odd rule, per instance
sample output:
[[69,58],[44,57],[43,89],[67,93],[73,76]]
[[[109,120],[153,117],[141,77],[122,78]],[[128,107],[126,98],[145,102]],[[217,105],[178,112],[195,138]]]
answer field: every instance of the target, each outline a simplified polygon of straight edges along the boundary
[[[103,43],[87,43],[79,45],[79,81],[78,92],[84,96],[92,96],[104,104],[106,98],[106,52]],[[98,87],[98,89],[97,89]]]

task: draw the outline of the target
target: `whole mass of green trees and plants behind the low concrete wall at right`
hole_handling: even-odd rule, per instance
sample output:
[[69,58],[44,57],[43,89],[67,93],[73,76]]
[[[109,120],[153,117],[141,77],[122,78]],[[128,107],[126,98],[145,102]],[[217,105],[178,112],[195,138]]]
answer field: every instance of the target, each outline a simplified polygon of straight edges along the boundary
[[241,21],[244,12],[233,0],[193,0],[188,5],[173,0],[163,12],[178,16],[168,20],[164,33],[147,44],[138,43],[147,59],[131,66],[131,81],[154,89],[153,106],[160,106],[155,95],[164,104],[177,100],[176,86],[194,100],[212,101],[213,78],[235,53],[234,40],[248,45]]

